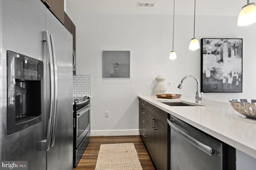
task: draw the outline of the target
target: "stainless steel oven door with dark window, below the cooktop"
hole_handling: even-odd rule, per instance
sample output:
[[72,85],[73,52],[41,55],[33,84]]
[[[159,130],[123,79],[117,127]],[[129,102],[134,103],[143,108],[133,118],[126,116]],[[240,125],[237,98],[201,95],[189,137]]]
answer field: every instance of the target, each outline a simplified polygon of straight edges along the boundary
[[90,130],[90,104],[76,112],[76,148]]

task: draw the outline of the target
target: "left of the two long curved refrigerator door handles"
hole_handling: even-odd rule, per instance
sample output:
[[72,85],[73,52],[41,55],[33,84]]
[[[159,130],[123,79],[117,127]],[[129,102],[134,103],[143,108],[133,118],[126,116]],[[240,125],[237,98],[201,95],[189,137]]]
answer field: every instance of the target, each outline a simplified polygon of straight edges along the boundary
[[[49,67],[46,66],[46,68],[49,68],[49,76],[50,76],[50,105],[49,105],[49,119],[48,119],[48,125],[47,125],[47,135],[46,135],[46,151],[50,150],[50,144],[51,144],[51,138],[52,138],[52,126],[53,126],[53,111],[54,111],[54,67],[53,67],[53,58],[52,58],[52,45],[50,40],[50,34],[48,31],[44,31],[44,38],[43,41],[46,41],[46,48],[48,51],[48,60],[46,65],[49,63]],[[48,62],[49,61],[49,62]],[[46,108],[46,112],[48,111],[48,108]]]

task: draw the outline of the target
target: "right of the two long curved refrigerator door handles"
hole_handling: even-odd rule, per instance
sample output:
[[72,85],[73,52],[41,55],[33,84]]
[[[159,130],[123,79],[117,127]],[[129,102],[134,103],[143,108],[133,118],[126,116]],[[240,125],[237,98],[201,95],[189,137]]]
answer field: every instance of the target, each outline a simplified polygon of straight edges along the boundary
[[54,146],[55,137],[56,137],[56,128],[57,128],[57,102],[58,102],[58,69],[57,69],[57,61],[56,61],[56,50],[54,37],[50,34],[51,45],[52,45],[52,59],[53,59],[53,68],[54,68],[54,111],[53,111],[53,131],[52,131],[52,140],[51,147]]

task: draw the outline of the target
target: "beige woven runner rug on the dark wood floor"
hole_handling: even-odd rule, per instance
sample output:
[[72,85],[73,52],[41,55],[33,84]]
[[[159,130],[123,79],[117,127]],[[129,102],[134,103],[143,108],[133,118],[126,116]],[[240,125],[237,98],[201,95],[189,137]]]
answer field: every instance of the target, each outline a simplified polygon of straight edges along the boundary
[[100,145],[95,170],[142,170],[133,143]]

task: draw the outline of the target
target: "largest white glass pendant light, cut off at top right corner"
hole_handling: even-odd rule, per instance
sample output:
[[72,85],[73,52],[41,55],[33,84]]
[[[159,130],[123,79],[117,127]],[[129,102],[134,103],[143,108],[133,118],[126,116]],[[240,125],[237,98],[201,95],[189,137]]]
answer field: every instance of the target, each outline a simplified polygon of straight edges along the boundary
[[242,7],[239,13],[237,25],[246,26],[256,22],[256,6],[255,3],[250,3],[247,0],[247,5]]

